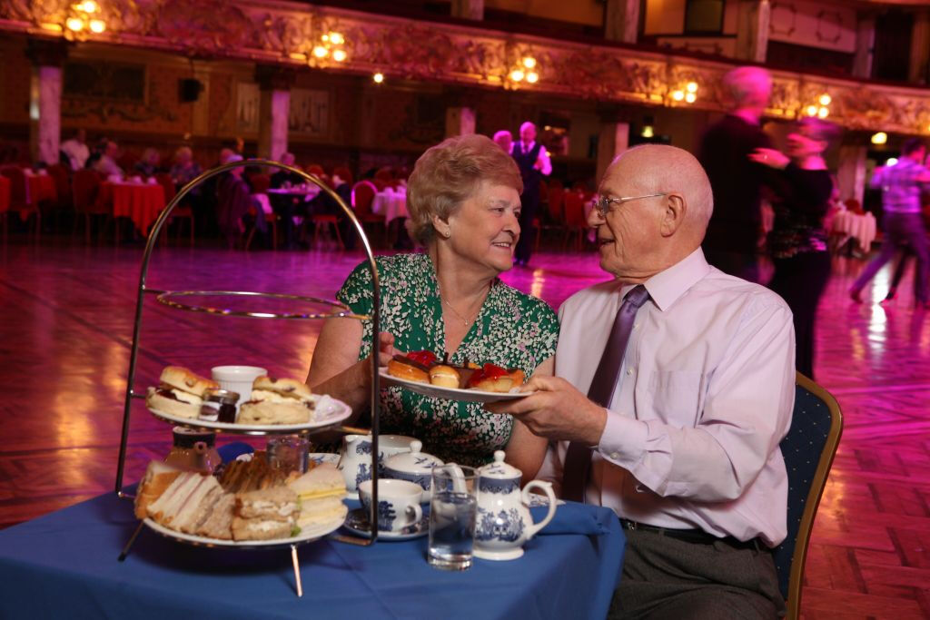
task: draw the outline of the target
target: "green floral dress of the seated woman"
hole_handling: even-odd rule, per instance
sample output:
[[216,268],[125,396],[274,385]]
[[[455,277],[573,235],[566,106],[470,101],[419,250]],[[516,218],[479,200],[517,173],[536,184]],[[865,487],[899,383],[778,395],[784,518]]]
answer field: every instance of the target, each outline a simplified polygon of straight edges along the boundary
[[[445,356],[445,324],[432,258],[426,254],[378,257],[382,332],[398,350],[432,350]],[[352,311],[372,310],[371,273],[355,268],[339,290]],[[363,322],[359,359],[371,353],[372,325]],[[496,363],[530,376],[551,358],[559,334],[555,312],[542,300],[495,280],[472,328],[450,356],[452,363]],[[381,389],[381,432],[416,437],[423,452],[446,462],[478,466],[493,460],[511,438],[511,416],[491,414],[481,403],[421,396],[407,389]]]

